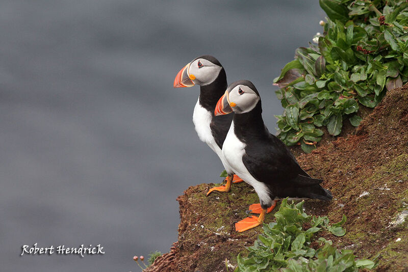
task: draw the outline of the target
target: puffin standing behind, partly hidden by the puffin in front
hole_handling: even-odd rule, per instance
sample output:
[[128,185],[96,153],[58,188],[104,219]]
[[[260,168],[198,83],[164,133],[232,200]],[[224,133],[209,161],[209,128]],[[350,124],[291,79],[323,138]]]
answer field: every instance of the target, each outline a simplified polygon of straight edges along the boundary
[[222,145],[233,116],[215,117],[214,115],[215,105],[227,88],[225,70],[216,58],[203,55],[189,62],[177,73],[173,87],[192,87],[196,84],[200,86],[200,95],[194,107],[193,123],[198,138],[218,155],[224,169],[230,173],[225,179],[226,184],[210,188],[207,196],[214,191],[230,192],[232,183],[243,180],[234,175],[222,154]]

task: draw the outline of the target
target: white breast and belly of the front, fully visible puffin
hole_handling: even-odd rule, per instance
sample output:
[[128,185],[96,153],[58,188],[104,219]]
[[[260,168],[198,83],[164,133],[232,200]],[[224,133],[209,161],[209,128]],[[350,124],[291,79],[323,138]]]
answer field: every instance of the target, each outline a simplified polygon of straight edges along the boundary
[[269,188],[264,183],[252,177],[242,162],[242,157],[245,154],[245,147],[246,144],[241,142],[235,135],[233,121],[230,130],[228,130],[228,134],[226,135],[224,145],[222,146],[222,154],[234,173],[255,189],[261,203],[270,205],[272,200],[269,196]]

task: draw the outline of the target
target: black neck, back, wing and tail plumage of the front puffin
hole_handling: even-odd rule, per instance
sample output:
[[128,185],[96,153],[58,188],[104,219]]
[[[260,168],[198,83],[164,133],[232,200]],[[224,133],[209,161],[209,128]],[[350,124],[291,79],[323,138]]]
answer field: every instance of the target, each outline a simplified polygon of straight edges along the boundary
[[242,161],[255,179],[265,183],[271,197],[330,200],[321,179],[311,178],[286,145],[269,133],[262,120],[261,100],[252,111],[234,116],[234,132],[246,144]]

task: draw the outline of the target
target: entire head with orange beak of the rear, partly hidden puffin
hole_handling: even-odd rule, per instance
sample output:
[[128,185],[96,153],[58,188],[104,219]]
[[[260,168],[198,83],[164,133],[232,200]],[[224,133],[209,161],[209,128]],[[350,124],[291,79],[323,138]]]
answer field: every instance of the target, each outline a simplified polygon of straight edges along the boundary
[[196,84],[211,84],[222,69],[221,63],[213,56],[204,55],[195,58],[184,66],[174,78],[174,88],[191,87]]

